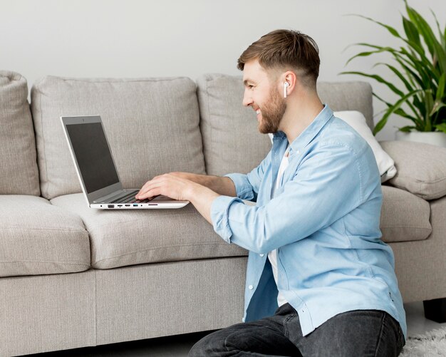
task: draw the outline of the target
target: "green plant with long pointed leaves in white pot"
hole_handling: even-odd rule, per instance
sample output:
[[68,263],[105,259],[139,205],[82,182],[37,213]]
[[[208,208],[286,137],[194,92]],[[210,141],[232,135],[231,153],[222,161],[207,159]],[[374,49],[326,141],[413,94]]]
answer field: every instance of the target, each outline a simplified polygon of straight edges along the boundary
[[[399,48],[390,46],[378,46],[370,43],[356,43],[356,46],[365,46],[369,51],[362,51],[348,59],[350,63],[354,58],[373,56],[377,53],[388,53],[393,63],[375,63],[375,66],[385,66],[395,75],[398,83],[387,81],[377,74],[359,71],[346,71],[341,74],[356,74],[372,78],[387,86],[397,95],[394,103],[373,95],[386,105],[386,109],[378,123],[375,125],[373,134],[378,133],[387,123],[393,113],[410,120],[412,123],[399,128],[397,138],[405,139],[405,136],[413,136],[417,133],[430,133],[428,143],[432,143],[432,136],[438,136],[437,144],[446,147],[446,26],[440,29],[437,17],[432,12],[437,25],[439,35],[427,21],[405,2],[407,17],[402,15],[404,35],[400,35],[396,29],[374,19],[360,16],[368,21],[385,28],[392,36],[398,38],[402,43]],[[415,138],[415,141],[419,141]]]

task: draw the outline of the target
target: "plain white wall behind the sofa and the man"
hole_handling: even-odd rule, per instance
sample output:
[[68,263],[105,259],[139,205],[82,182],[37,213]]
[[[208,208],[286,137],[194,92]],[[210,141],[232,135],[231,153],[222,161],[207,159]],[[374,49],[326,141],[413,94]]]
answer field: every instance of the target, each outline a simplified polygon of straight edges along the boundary
[[[410,5],[429,20],[432,9],[444,26],[445,0],[410,0]],[[344,15],[363,14],[402,29],[403,11],[403,0],[0,0],[0,68],[21,73],[28,86],[46,75],[234,75],[237,58],[250,43],[284,28],[316,40],[321,81],[358,80],[338,73],[370,71],[374,62],[363,58],[345,68],[360,49],[344,51],[348,45],[397,42],[378,26]],[[375,113],[383,109],[381,103],[374,106]],[[394,126],[406,121],[392,118],[378,140],[393,139]]]

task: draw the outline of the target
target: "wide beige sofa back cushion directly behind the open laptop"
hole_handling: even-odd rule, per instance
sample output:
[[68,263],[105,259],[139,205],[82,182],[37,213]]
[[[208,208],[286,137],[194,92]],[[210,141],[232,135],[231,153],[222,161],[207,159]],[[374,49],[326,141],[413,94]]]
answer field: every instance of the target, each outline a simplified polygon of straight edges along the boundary
[[204,173],[196,86],[189,78],[45,77],[31,90],[42,196],[81,192],[60,116],[100,115],[126,188],[170,171]]

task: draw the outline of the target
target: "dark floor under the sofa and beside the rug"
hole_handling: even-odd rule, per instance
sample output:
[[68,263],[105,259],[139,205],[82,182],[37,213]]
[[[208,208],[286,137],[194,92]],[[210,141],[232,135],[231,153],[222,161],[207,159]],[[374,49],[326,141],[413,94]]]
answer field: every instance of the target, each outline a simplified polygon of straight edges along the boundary
[[[408,335],[415,336],[435,328],[446,327],[435,321],[425,319],[422,302],[405,304],[406,317],[408,321]],[[28,355],[36,357],[180,357],[187,356],[192,345],[205,336],[206,333],[190,333],[187,335],[170,336],[162,338],[151,338],[142,341],[115,343],[112,345],[78,348],[69,351],[39,353]]]

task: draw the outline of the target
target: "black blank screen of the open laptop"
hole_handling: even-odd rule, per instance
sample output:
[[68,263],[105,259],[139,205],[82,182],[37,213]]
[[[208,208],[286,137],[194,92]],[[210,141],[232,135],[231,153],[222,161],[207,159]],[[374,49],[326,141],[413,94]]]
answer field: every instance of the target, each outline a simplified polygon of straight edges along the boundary
[[101,123],[66,125],[87,193],[119,182]]

